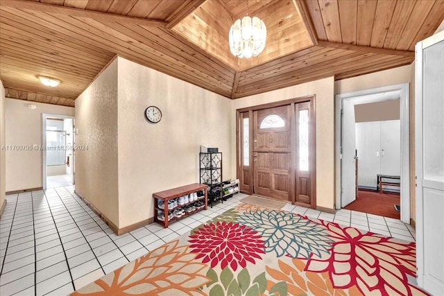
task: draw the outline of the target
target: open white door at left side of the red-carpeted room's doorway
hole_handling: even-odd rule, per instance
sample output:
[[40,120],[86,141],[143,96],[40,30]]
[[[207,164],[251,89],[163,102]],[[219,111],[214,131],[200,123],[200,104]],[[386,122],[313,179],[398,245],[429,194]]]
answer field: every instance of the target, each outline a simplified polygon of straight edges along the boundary
[[356,200],[356,128],[355,107],[342,101],[341,120],[341,207]]

